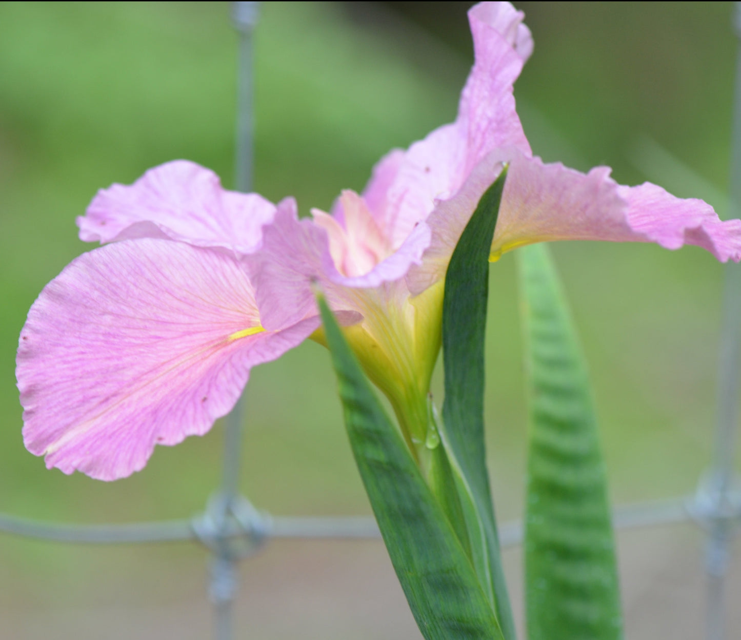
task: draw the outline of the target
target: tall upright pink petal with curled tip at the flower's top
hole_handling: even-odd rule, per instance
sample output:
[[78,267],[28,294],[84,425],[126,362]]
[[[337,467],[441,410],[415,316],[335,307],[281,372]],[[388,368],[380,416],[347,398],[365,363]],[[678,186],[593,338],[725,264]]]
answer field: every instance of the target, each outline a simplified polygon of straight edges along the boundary
[[[484,2],[469,12],[476,62],[468,76],[458,119],[392,151],[376,165],[365,189],[379,227],[398,248],[436,199],[459,190],[473,167],[498,148],[531,155],[515,110],[514,81],[532,52],[532,37],[522,12],[508,2]],[[340,208],[336,211],[342,215]]]

